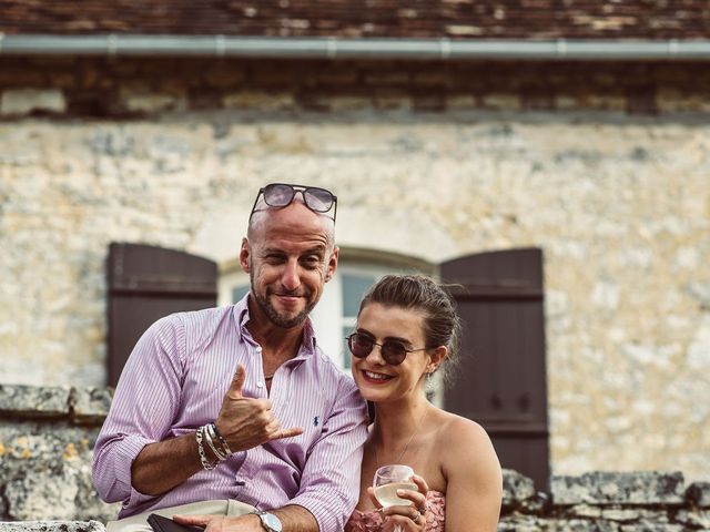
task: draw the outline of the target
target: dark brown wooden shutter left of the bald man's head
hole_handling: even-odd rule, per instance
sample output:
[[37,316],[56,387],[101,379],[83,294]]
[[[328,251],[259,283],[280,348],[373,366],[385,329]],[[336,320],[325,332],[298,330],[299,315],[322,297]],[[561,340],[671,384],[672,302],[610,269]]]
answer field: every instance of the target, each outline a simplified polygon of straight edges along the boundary
[[108,381],[115,386],[145,329],[159,318],[216,305],[216,264],[141,244],[109,247]]

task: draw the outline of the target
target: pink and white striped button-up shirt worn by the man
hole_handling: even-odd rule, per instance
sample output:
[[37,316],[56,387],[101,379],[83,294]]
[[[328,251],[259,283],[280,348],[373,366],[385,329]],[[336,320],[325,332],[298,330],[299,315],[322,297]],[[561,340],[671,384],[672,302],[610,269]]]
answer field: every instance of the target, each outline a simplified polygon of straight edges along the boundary
[[[342,531],[357,502],[366,407],[349,376],[315,342],[306,321],[298,355],[274,375],[267,395],[261,348],[251,337],[246,296],[236,305],[173,314],[135,345],[115,390],[93,458],[94,485],[121,518],[211,499],[270,510],[300,504],[321,532]],[[237,362],[245,397],[267,398],[282,427],[304,433],[237,452],[158,497],[131,485],[131,466],[148,443],[214,421]]]

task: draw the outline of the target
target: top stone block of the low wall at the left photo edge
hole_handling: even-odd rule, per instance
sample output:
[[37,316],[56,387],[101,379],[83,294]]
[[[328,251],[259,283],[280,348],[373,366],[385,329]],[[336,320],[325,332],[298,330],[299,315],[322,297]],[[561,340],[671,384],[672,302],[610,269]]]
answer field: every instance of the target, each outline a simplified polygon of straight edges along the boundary
[[0,417],[10,419],[69,417],[69,387],[0,385]]

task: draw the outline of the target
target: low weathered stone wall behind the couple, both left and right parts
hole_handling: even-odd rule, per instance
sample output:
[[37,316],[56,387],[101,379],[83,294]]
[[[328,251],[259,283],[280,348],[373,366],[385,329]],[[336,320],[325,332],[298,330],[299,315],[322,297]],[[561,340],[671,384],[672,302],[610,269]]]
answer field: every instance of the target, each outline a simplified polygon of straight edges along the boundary
[[[0,532],[103,532],[119,508],[94,493],[91,453],[110,400],[106,389],[0,387]],[[710,530],[710,482],[590,472],[554,475],[542,493],[506,470],[498,530]]]

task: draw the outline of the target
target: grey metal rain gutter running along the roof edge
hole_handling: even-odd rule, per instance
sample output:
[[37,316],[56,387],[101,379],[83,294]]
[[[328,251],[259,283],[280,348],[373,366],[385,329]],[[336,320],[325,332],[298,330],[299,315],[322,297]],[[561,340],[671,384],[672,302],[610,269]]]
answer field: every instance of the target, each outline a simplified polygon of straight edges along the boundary
[[0,55],[194,55],[397,60],[710,60],[710,40],[341,39],[2,34]]

